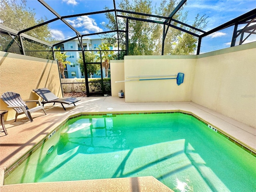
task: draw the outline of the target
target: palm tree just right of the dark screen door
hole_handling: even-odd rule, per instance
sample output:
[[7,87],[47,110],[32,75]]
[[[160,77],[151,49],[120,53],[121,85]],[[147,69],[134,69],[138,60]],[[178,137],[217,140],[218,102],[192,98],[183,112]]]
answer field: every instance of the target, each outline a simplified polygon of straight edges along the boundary
[[[114,51],[110,51],[109,44],[108,43],[102,43],[99,45],[98,50],[104,50],[104,51],[98,51],[98,54],[101,53],[101,60],[102,60],[102,68],[105,69],[105,75],[108,77],[108,68],[109,68],[109,62],[112,59],[112,55],[114,54]],[[100,56],[98,56],[97,60],[100,60]]]

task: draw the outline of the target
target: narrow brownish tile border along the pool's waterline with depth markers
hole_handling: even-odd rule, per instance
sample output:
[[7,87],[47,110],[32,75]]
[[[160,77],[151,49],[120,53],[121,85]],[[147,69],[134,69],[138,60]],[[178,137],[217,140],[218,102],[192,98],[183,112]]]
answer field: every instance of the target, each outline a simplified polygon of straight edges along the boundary
[[[115,117],[115,116],[119,116],[119,115],[141,115],[141,114],[174,114],[174,113],[178,113],[178,114],[185,114],[188,116],[192,116],[193,118],[195,118],[196,120],[202,122],[204,125],[206,126],[212,126],[216,129],[216,132],[218,134],[220,134],[221,136],[223,136],[224,138],[228,139],[230,142],[236,144],[237,146],[239,146],[240,148],[242,148],[243,150],[245,150],[246,152],[248,152],[249,154],[251,154],[252,156],[256,157],[256,152],[254,152],[253,150],[251,150],[250,148],[244,146],[243,144],[241,144],[240,142],[236,141],[235,139],[233,139],[231,136],[228,136],[228,134],[225,134],[224,132],[220,131],[218,128],[216,128],[215,126],[213,126],[212,124],[202,120],[201,118],[199,118],[198,116],[196,116],[195,114],[191,113],[191,112],[185,112],[185,111],[164,111],[164,112],[130,112],[130,113],[86,113],[86,114],[75,114],[72,115],[68,118],[66,118],[66,120],[64,120],[60,125],[57,126],[57,128],[55,130],[53,130],[52,132],[57,132],[58,130],[60,130],[60,128],[62,128],[62,126],[64,126],[65,124],[68,123],[69,120],[72,120],[74,118],[78,118],[81,116],[103,116],[103,117]],[[51,132],[51,134],[52,134]],[[22,164],[30,155],[32,155],[38,148],[40,148],[40,146],[42,146],[48,139],[49,139],[50,134],[48,134],[46,136],[46,138],[44,138],[42,141],[40,141],[36,146],[34,146],[28,153],[26,153],[24,156],[22,156],[22,158],[20,158],[16,163],[14,163],[12,166],[10,166],[9,168],[6,169],[6,171],[4,172],[4,179],[9,176],[20,164]]]

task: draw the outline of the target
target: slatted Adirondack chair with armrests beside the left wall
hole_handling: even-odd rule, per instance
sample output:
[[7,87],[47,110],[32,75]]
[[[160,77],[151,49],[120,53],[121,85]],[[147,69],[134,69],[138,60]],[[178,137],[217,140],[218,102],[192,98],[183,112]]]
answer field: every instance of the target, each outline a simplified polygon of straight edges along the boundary
[[[7,108],[13,108],[16,111],[14,121],[17,120],[18,115],[26,114],[30,122],[32,122],[33,118],[31,117],[31,113],[36,112],[38,110],[43,110],[44,113],[46,114],[40,100],[30,100],[30,101],[24,102],[20,97],[20,94],[14,93],[14,92],[5,92],[4,94],[2,94],[1,99],[8,105]],[[39,105],[29,109],[28,106],[26,105],[26,102],[36,102]]]

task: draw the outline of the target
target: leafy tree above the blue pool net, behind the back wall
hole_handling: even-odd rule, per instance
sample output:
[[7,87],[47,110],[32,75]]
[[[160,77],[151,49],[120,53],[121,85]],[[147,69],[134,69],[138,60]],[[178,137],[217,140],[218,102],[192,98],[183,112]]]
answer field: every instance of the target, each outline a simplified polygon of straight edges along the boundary
[[[176,0],[162,0],[160,7],[156,9],[156,14],[161,16],[168,17],[172,10],[176,7]],[[173,16],[173,19],[180,20],[184,23],[186,23],[188,11],[185,13],[182,12],[183,8],[180,8],[180,10]],[[198,29],[203,29],[206,27],[207,23],[205,15],[201,16],[197,14],[194,23],[192,24],[193,27]],[[198,33],[196,30],[191,29],[187,26],[183,26],[182,24],[178,23],[171,23],[175,26],[178,26],[180,28],[186,29],[190,32]],[[160,50],[162,50],[162,31],[163,26],[158,26],[157,28],[154,28],[154,37],[156,39],[156,47],[157,52],[159,53]],[[169,27],[168,33],[166,35],[166,39],[164,42],[164,54],[165,55],[189,55],[194,54],[196,50],[196,43],[198,42],[198,39],[190,35],[186,32],[182,32],[180,30],[177,30],[175,28]]]

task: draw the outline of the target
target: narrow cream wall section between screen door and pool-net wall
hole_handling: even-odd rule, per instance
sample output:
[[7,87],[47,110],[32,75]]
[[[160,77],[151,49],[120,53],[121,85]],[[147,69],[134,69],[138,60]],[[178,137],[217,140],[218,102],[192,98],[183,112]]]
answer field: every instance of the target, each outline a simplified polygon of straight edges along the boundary
[[110,74],[111,74],[111,95],[118,96],[120,90],[124,90],[124,82],[116,82],[124,80],[124,60],[111,60],[110,61]]

